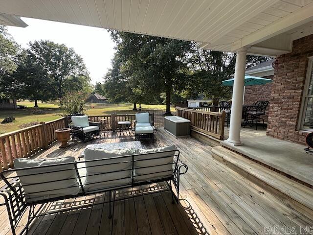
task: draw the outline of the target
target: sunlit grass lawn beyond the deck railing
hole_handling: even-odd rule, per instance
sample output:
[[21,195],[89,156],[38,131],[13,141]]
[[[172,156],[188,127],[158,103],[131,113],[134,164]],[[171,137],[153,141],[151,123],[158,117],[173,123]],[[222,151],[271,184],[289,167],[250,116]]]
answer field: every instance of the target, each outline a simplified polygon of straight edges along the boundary
[[[19,105],[27,105],[26,109],[18,110],[1,110],[0,122],[4,117],[13,116],[16,120],[11,123],[0,123],[0,134],[11,132],[20,129],[20,125],[29,122],[41,122],[51,121],[60,118],[63,115],[63,111],[55,104],[52,103],[38,103],[39,108],[33,108],[34,103],[29,101],[19,102]],[[138,108],[139,105],[137,105]],[[163,109],[165,111],[165,105],[141,105],[142,109]],[[86,114],[88,115],[103,115],[103,114],[131,114],[133,104],[88,104]],[[175,112],[175,108],[171,108],[172,112]]]

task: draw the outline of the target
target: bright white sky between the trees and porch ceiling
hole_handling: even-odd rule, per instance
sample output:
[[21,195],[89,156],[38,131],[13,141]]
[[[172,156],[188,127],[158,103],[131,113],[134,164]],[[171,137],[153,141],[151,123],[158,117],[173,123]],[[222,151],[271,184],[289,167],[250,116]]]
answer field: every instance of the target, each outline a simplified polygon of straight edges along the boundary
[[27,27],[8,26],[9,33],[22,47],[35,40],[50,40],[73,47],[81,55],[91,77],[91,83],[103,82],[111,68],[114,42],[104,28],[22,18]]

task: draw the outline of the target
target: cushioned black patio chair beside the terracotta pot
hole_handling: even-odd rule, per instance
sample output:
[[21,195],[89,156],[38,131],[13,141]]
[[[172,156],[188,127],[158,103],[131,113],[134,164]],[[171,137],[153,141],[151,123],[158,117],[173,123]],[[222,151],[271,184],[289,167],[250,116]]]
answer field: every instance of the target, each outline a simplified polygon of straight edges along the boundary
[[89,121],[88,116],[78,114],[70,116],[72,138],[76,137],[84,142],[91,141],[100,135],[100,122]]

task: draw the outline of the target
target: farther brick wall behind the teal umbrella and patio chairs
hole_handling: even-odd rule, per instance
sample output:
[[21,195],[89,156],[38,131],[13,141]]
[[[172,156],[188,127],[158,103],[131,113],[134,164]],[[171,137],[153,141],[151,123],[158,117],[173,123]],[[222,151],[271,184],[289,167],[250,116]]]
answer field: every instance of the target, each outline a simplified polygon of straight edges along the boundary
[[[273,79],[273,75],[266,76],[265,78]],[[271,90],[272,83],[257,86],[247,86],[245,89],[244,104],[253,104],[255,101],[258,100],[269,101]],[[267,107],[265,112],[266,115],[263,117],[265,121],[268,120],[268,109],[269,107]]]

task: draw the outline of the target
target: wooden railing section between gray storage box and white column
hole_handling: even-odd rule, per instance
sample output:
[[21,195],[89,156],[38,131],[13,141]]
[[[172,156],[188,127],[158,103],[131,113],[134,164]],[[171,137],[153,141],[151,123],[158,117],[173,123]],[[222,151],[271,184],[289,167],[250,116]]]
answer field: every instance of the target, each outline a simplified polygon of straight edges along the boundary
[[207,112],[195,109],[176,108],[176,115],[190,120],[191,130],[224,140],[225,112]]

